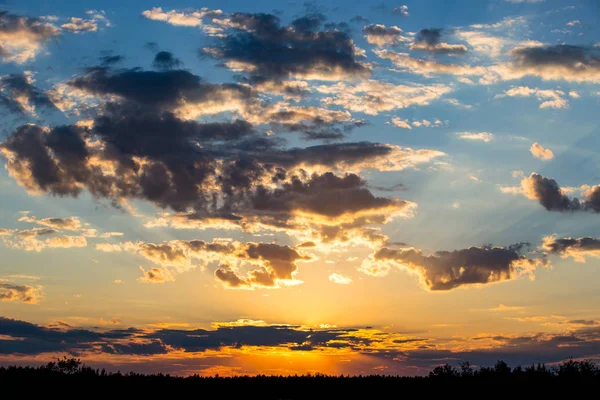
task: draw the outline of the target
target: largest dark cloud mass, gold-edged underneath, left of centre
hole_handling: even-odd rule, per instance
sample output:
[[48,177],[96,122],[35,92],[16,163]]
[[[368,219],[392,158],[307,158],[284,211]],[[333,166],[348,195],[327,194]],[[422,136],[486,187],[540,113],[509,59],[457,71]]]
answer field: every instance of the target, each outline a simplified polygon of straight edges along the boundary
[[[140,99],[152,105],[162,100]],[[198,123],[151,110],[109,103],[91,129],[22,126],[0,149],[13,176],[32,192],[77,196],[87,189],[115,204],[142,198],[162,208],[204,215],[307,211],[330,217],[398,205],[371,195],[356,175],[286,173],[299,166],[372,163],[390,156],[390,146],[349,143],[284,150],[279,139],[261,136],[241,120]],[[94,146],[94,140],[102,146]],[[113,173],[103,168],[108,165]],[[281,180],[287,182],[276,189],[265,185]]]

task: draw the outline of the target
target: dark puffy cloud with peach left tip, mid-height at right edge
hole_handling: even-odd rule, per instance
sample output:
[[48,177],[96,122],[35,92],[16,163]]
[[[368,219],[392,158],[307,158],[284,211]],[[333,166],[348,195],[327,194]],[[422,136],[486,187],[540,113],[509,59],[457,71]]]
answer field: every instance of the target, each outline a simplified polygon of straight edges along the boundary
[[523,178],[521,188],[514,192],[537,200],[548,211],[600,212],[600,185],[588,187],[580,200],[567,196],[554,179],[532,172],[529,177]]

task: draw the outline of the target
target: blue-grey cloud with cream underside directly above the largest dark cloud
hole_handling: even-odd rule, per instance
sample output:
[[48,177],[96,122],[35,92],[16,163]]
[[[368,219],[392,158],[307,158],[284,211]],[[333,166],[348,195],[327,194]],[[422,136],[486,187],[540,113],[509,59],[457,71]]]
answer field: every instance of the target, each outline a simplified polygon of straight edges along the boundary
[[[290,106],[286,102],[267,104],[259,99],[258,92],[249,85],[210,84],[188,71],[170,67],[162,69],[112,72],[108,68],[93,68],[85,76],[75,78],[68,84],[95,96],[118,96],[121,101],[151,108],[153,110],[147,112],[155,119],[159,117],[157,111],[170,112],[186,120],[230,112],[253,124],[270,124],[277,131],[299,132],[307,139],[328,140],[340,139],[346,132],[362,124],[352,119],[348,111]],[[255,80],[252,83],[258,90],[274,91],[274,87],[278,87],[280,94],[291,97],[302,96],[306,88],[302,82],[275,85],[268,80]],[[117,111],[123,114],[126,110]],[[141,113],[132,107],[130,111]]]

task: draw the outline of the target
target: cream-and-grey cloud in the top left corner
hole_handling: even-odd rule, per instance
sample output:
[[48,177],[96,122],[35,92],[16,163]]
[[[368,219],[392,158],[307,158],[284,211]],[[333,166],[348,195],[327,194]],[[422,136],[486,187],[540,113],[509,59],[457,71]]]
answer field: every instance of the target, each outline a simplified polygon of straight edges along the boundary
[[59,34],[57,27],[39,18],[0,11],[0,58],[4,62],[25,63]]

